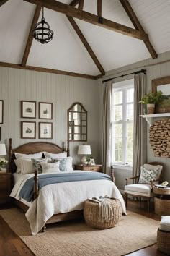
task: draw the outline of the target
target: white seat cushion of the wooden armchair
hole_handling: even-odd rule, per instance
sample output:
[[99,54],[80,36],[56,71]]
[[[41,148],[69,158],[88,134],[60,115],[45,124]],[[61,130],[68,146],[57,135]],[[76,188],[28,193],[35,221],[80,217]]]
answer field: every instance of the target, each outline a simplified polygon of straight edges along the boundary
[[131,195],[143,195],[144,197],[152,197],[153,193],[149,184],[130,184],[125,186],[125,193]]

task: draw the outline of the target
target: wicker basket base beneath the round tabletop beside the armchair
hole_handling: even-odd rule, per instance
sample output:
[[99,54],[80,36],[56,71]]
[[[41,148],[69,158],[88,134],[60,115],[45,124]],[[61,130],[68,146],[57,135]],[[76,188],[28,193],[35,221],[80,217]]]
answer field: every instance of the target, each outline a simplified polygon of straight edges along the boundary
[[163,216],[163,215],[170,215],[170,200],[169,199],[162,199],[155,197],[155,213]]

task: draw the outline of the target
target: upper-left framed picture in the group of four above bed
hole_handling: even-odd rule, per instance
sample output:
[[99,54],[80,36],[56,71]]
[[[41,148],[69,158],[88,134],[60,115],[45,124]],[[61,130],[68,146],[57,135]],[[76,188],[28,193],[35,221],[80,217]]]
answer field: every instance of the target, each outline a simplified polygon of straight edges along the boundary
[[36,118],[36,102],[35,101],[21,101],[21,117],[22,118]]

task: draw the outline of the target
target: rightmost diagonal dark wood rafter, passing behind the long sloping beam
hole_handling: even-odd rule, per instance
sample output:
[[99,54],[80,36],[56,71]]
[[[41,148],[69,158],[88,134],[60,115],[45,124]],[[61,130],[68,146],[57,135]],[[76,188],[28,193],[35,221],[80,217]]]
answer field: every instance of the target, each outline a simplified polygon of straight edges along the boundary
[[[131,22],[133,23],[135,29],[145,33],[145,30],[143,29],[142,25],[140,24],[138,17],[136,16],[135,12],[133,11],[133,8],[131,7],[129,1],[128,0],[120,0],[120,3],[122,4],[122,7],[125,9],[125,12],[128,14],[128,17],[130,18]],[[153,48],[149,38],[144,39],[143,42],[145,43],[146,48],[148,48],[148,51],[151,54],[152,58],[156,59],[158,57],[158,54],[156,54],[156,51]]]

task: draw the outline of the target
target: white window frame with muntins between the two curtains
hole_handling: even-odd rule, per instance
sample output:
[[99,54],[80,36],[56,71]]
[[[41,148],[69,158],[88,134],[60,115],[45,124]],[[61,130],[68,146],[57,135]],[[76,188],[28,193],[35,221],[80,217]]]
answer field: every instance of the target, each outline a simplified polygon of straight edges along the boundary
[[[132,102],[128,102],[128,89],[134,88],[134,80],[125,80],[122,82],[117,82],[113,86],[113,93],[122,91],[122,103],[121,104],[114,104],[113,102],[113,114],[114,114],[114,106],[122,106],[122,120],[120,121],[113,121],[112,116],[112,132],[113,132],[113,125],[114,124],[122,124],[122,162],[115,162],[115,140],[112,140],[112,165],[114,166],[132,166],[133,163],[127,163],[127,124],[133,124],[133,120],[127,119],[127,106]],[[112,135],[113,137],[113,135]],[[114,137],[113,137],[114,138]]]

